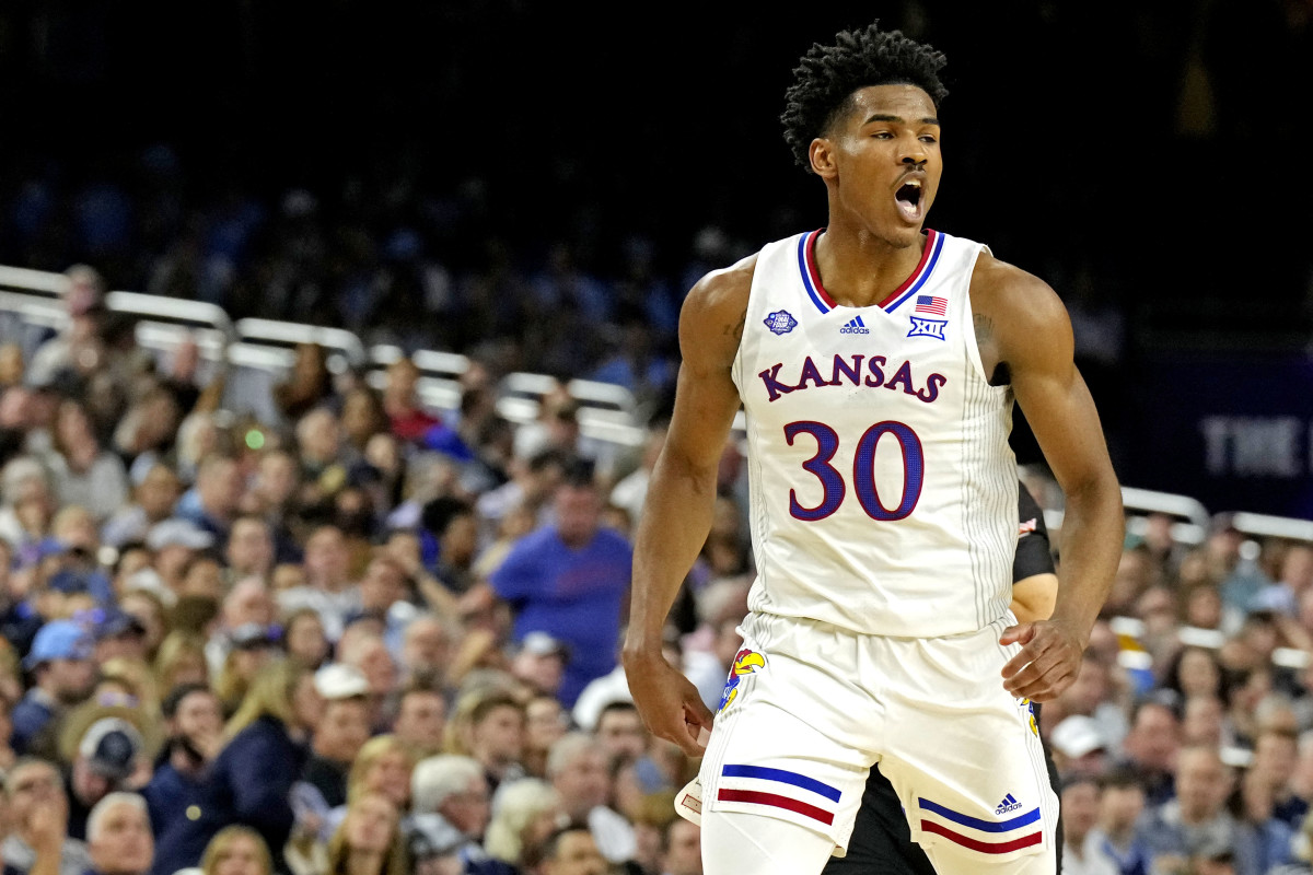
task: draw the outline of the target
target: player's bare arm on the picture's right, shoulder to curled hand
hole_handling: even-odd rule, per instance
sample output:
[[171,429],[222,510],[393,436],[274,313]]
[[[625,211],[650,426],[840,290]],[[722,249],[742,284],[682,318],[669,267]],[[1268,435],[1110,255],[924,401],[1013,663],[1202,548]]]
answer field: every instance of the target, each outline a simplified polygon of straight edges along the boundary
[[1003,668],[1016,697],[1046,702],[1074,680],[1121,556],[1125,519],[1094,399],[1074,361],[1071,323],[1041,279],[989,258],[972,281],[977,337],[1011,380],[1066,500],[1053,615],[1004,631],[1022,651]]

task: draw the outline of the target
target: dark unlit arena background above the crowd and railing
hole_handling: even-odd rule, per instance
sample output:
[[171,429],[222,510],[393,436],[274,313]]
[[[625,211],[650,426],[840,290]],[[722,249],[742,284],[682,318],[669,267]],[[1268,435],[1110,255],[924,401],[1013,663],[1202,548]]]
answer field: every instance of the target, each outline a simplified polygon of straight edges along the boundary
[[[1158,352],[1313,337],[1313,0],[562,5],[7,1],[0,264],[91,261],[114,287],[362,335],[414,321],[414,283],[335,296],[395,252],[457,282],[561,251],[607,282],[642,252],[678,302],[717,258],[823,224],[783,93],[811,42],[878,16],[948,55],[928,224],[1058,290],[1119,462]],[[211,251],[223,282],[160,279]]]

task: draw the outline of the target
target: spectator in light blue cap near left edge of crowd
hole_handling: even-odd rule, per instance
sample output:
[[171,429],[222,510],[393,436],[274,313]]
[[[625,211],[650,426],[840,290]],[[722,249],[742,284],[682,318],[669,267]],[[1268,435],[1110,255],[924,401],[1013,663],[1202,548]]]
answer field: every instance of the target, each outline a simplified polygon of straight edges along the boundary
[[25,753],[53,720],[91,693],[93,649],[91,632],[74,621],[51,621],[37,632],[24,660],[33,683],[11,714],[17,753]]

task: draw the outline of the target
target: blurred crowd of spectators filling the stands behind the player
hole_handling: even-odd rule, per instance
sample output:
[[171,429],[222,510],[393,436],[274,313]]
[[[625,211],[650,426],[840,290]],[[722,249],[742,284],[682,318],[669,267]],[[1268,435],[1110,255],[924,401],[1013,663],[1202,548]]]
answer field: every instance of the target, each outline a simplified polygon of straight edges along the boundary
[[[617,661],[660,408],[620,447],[563,384],[503,418],[496,357],[453,413],[410,358],[373,388],[306,348],[276,421],[234,416],[222,371],[138,348],[93,268],[64,278],[67,325],[0,346],[7,875],[701,871],[672,804],[697,762]],[[666,639],[713,710],[746,496],[730,441]],[[1173,522],[1128,538],[1043,708],[1064,871],[1313,871],[1313,544]]]

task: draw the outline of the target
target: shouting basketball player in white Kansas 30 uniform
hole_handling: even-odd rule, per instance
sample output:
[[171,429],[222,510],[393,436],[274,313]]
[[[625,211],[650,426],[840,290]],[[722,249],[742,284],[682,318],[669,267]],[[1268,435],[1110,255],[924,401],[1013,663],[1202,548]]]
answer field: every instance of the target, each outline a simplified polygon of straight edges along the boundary
[[[825,182],[827,226],[709,273],[683,307],[622,657],[647,727],[702,756],[706,875],[821,872],[877,761],[937,871],[1054,868],[1057,798],[1025,699],[1075,676],[1121,495],[1058,296],[923,232],[943,63],[877,25],[813,46],[783,121]],[[1006,172],[1043,184],[1043,119],[999,125],[1018,139]],[[1008,611],[1014,396],[1066,499],[1057,606],[1031,623]],[[660,641],[741,404],[758,579],[713,729]]]

